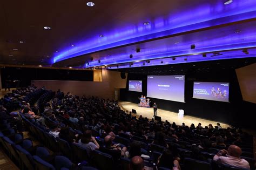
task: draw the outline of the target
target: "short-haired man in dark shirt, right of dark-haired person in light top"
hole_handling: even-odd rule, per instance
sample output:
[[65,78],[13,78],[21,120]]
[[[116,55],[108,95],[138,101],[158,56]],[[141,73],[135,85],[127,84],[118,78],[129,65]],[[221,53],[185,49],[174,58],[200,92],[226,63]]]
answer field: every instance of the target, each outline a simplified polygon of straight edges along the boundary
[[114,160],[118,160],[125,155],[127,148],[126,147],[121,148],[120,145],[118,144],[113,145],[111,135],[106,135],[106,137],[104,138],[104,142],[105,142],[105,152],[112,155]]

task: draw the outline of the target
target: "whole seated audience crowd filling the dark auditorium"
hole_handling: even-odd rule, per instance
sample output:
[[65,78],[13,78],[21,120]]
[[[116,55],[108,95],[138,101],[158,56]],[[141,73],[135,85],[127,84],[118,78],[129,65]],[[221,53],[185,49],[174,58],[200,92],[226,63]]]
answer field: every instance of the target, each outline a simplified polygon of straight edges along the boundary
[[[32,122],[36,121],[36,126],[40,124],[41,127],[45,127],[44,130],[56,139],[68,141],[70,145],[72,142],[77,142],[78,145],[86,148],[89,157],[95,149],[99,149],[112,155],[115,164],[121,157],[126,157],[131,159],[130,169],[144,169],[146,166],[140,156],[142,153],[148,153],[152,157],[146,149],[149,144],[156,144],[168,148],[159,157],[157,167],[180,169],[179,162],[182,163],[184,157],[207,161],[201,152],[211,153],[214,147],[217,151],[217,148],[230,146],[228,151],[225,149],[217,151],[213,160],[218,164],[228,164],[239,168],[250,167],[246,160],[240,158],[240,147],[250,144],[252,138],[240,129],[223,129],[219,123],[215,128],[212,124],[203,127],[200,123],[197,127],[194,124],[188,127],[184,123],[178,126],[175,122],[170,123],[167,120],[162,123],[143,117],[137,119],[131,113],[129,114],[129,111],[121,110],[117,101],[97,97],[78,97],[71,93],[64,95],[60,91],[44,104],[40,104],[44,108],[41,111],[44,117],[41,117],[40,112],[37,112],[37,107],[34,106],[36,101],[28,102],[21,98],[22,94],[33,90],[36,88],[14,91],[14,94],[6,95],[5,100],[19,101],[18,105],[22,107],[21,115]],[[18,96],[20,99],[17,98]],[[9,112],[3,107],[0,108],[0,113],[1,119],[12,121],[17,119],[10,117]],[[58,126],[62,128],[59,130]],[[93,136],[102,138],[98,140],[100,145]],[[129,152],[118,136],[125,137],[129,141],[123,140]],[[117,142],[118,139],[120,143]],[[146,146],[142,145],[143,143]],[[178,147],[190,150],[191,154],[180,153]]]

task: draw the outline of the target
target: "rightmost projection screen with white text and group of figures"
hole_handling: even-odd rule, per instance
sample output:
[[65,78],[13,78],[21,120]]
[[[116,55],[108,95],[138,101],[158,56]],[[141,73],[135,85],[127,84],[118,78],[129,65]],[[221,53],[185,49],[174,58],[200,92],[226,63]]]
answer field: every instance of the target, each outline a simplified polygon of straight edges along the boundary
[[194,82],[193,98],[228,102],[229,83]]

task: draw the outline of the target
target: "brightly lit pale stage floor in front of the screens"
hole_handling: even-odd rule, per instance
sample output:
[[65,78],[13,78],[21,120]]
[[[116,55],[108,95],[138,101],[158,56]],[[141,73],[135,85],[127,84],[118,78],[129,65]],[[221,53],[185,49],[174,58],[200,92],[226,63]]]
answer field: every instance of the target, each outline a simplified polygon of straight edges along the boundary
[[[143,117],[147,117],[149,119],[153,118],[153,108],[139,107],[138,104],[130,103],[128,101],[119,101],[119,105],[124,111],[127,110],[131,112],[132,109],[136,110],[137,114],[133,115],[136,115],[137,117],[139,117],[139,115],[142,115]],[[184,112],[184,117],[179,118],[178,113],[161,110],[159,108],[157,109],[157,115],[161,117],[162,121],[168,120],[170,121],[170,123],[174,121],[177,125],[182,125],[182,123],[185,123],[185,125],[190,126],[193,123],[195,126],[197,126],[198,123],[201,123],[203,127],[208,126],[209,124],[212,124],[214,127],[217,125],[217,123],[219,123],[217,121],[211,121],[207,119],[192,117],[190,115],[185,115],[186,111]],[[220,125],[223,128],[230,127],[230,125],[223,123],[220,123]]]

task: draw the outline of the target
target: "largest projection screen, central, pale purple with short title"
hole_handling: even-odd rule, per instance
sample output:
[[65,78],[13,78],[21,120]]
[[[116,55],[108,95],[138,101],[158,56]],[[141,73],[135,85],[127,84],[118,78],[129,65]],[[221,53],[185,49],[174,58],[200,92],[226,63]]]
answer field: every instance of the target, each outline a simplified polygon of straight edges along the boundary
[[147,76],[147,97],[184,102],[185,76]]

